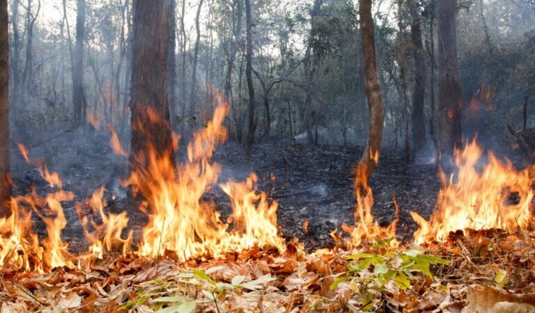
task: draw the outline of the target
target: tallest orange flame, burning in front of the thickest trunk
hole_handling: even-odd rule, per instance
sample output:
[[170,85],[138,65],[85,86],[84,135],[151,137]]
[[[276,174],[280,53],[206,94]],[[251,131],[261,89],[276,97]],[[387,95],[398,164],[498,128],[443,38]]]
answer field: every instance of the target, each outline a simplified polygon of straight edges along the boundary
[[[223,122],[228,104],[221,96],[218,101],[212,120],[206,128],[197,131],[187,145],[187,160],[176,164],[176,168],[169,155],[157,154],[150,146],[134,157],[137,163],[147,164],[123,182],[146,200],[143,210],[149,221],[143,230],[139,255],[157,257],[173,252],[178,259],[185,260],[217,257],[253,246],[284,250],[277,234],[277,202],[268,203],[265,193],[256,194],[252,188],[256,175],[251,175],[244,183],[221,185],[231,197],[232,232],[228,232],[229,225],[219,219],[213,202],[203,200],[221,172],[221,166],[210,163],[210,159],[217,143],[226,140]],[[178,143],[178,137],[175,138]]]

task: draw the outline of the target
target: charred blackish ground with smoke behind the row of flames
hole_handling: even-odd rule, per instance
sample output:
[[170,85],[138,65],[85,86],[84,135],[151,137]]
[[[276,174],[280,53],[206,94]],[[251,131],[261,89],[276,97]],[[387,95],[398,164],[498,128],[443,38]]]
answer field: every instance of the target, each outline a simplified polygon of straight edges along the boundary
[[[126,207],[125,190],[117,182],[124,177],[127,160],[117,157],[109,148],[109,134],[105,132],[50,132],[26,142],[31,159],[42,159],[50,170],[63,177],[63,189],[72,191],[77,200],[86,199],[95,188],[105,184],[106,198],[112,211]],[[219,182],[227,179],[246,179],[249,172],[258,175],[259,189],[279,202],[278,223],[284,236],[298,237],[307,248],[320,248],[334,243],[329,236],[336,226],[353,221],[354,195],[352,166],[362,154],[362,147],[309,147],[291,142],[260,143],[254,146],[250,162],[245,160],[240,145],[226,143],[217,148],[213,160],[222,164]],[[51,189],[40,177],[35,166],[26,164],[13,145],[12,175],[15,193],[21,194],[36,186],[38,193]],[[272,182],[270,174],[277,179]],[[408,238],[415,229],[409,211],[428,217],[433,210],[440,188],[432,165],[405,166],[403,154],[393,150],[382,152],[380,163],[371,182],[375,195],[373,213],[380,223],[387,225],[394,218],[396,195],[401,207],[398,236]],[[116,200],[111,200],[115,195]],[[231,211],[228,196],[219,186],[212,188],[206,198],[213,198],[223,218]],[[64,203],[68,220],[63,238],[77,250],[83,246],[83,234],[72,203]],[[132,209],[130,208],[130,211]],[[130,223],[140,229],[146,219],[134,209]],[[309,221],[308,233],[302,229]],[[42,234],[44,224],[36,218],[34,229]]]

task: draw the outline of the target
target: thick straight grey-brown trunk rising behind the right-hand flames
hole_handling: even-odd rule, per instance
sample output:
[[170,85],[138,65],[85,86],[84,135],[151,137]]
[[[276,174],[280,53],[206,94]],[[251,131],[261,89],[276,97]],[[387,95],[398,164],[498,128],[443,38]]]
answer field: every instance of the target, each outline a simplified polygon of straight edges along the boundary
[[454,147],[462,145],[460,114],[463,106],[459,83],[456,38],[456,0],[438,1],[438,144],[444,166]]

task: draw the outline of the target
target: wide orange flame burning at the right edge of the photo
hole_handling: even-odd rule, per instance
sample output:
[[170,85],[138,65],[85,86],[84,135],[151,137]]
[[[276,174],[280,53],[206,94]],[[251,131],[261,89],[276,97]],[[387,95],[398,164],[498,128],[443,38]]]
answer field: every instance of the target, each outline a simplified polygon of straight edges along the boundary
[[441,172],[442,188],[431,219],[411,212],[419,225],[414,233],[416,243],[443,241],[456,230],[499,228],[513,232],[533,223],[534,168],[516,170],[510,161],[499,161],[490,152],[488,164],[480,172],[477,166],[482,154],[475,139],[464,150],[456,150],[458,174],[456,179],[453,175],[447,179]]

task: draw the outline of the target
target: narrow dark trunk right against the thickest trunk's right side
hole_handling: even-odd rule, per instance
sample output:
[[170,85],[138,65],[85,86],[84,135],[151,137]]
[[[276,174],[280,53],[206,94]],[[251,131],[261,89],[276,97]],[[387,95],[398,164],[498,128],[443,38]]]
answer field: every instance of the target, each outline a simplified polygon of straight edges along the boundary
[[169,0],[169,47],[167,48],[167,101],[171,119],[176,115],[176,0]]

